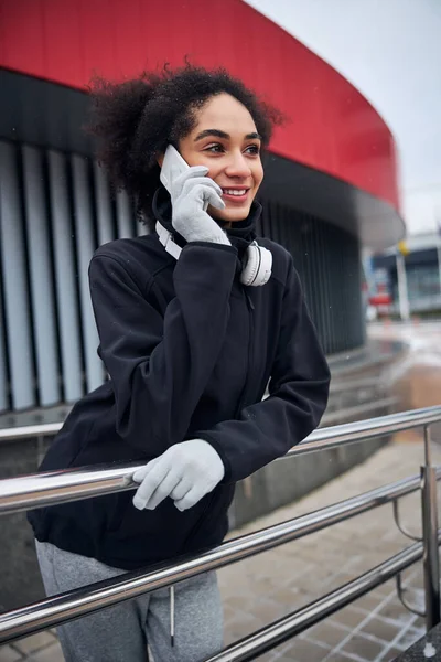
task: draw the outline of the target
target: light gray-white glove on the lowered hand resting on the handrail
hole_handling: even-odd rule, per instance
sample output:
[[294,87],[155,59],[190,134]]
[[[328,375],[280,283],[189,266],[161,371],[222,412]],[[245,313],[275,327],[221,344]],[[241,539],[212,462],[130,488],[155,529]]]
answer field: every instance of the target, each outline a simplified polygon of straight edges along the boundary
[[207,441],[191,439],[175,444],[133,473],[133,481],[141,483],[133,505],[154,510],[171,496],[178,510],[187,510],[214,490],[224,473],[224,462]]

